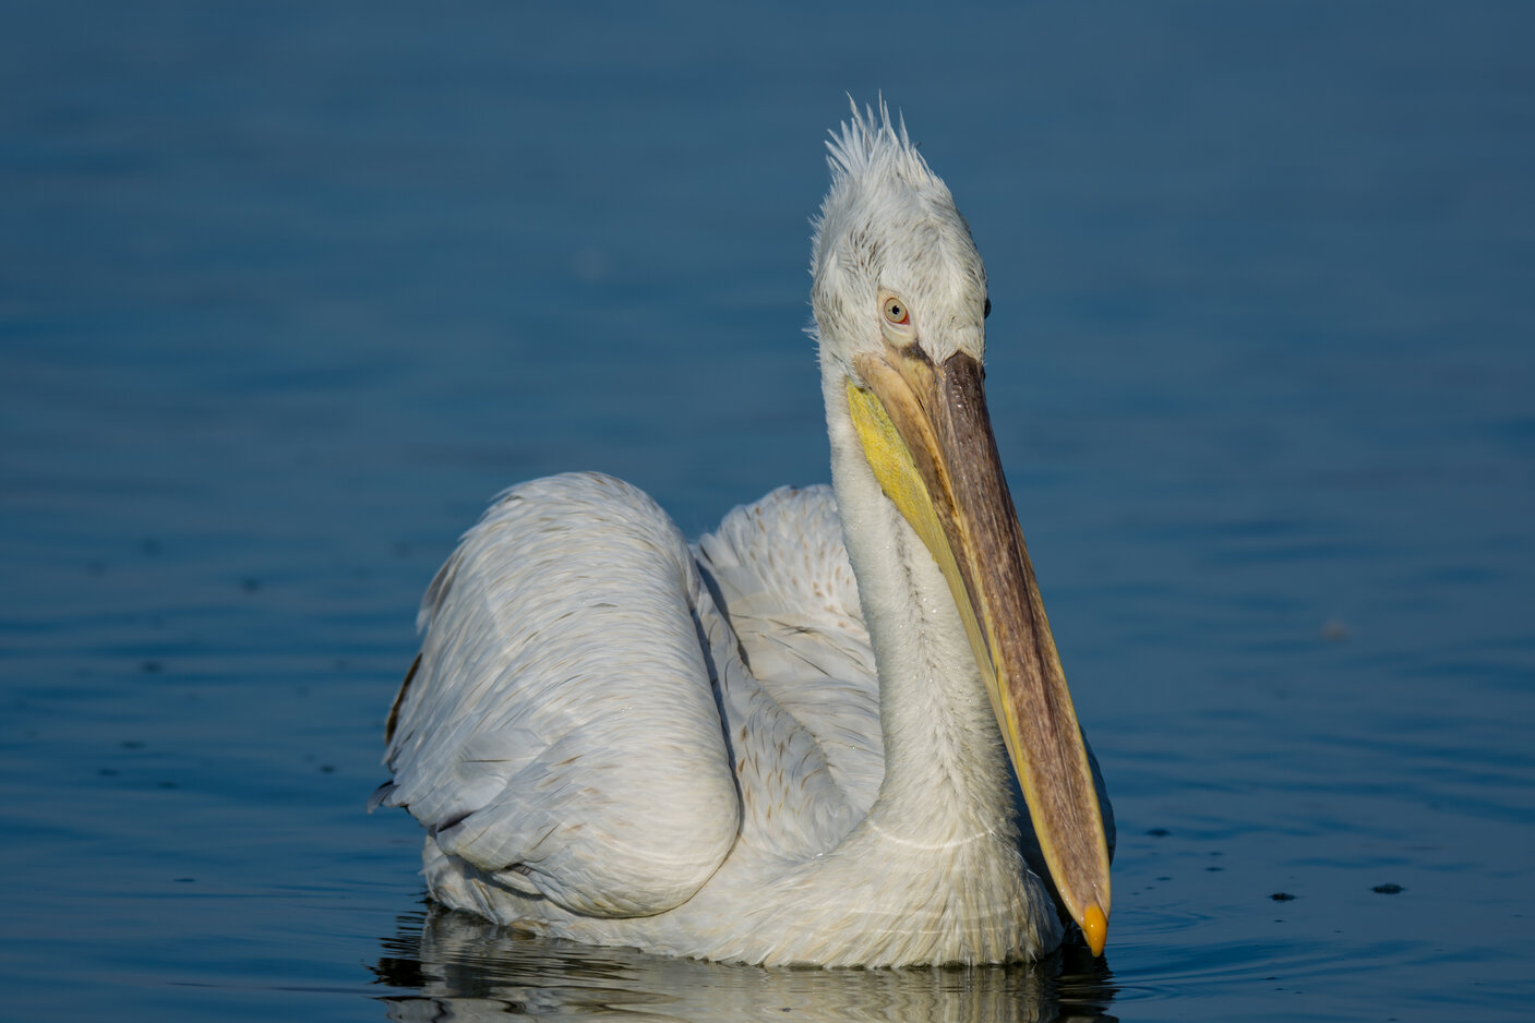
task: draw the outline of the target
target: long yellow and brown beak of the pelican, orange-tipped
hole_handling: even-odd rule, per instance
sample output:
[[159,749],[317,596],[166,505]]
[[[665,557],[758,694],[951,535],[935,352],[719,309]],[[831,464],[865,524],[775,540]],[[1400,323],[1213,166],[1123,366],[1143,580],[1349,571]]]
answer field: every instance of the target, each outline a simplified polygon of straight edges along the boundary
[[916,345],[858,356],[847,400],[864,456],[949,580],[1056,891],[1094,956],[1108,845],[1082,732],[992,436],[981,363]]

